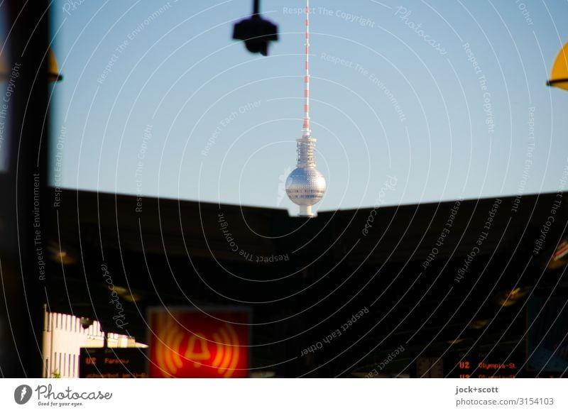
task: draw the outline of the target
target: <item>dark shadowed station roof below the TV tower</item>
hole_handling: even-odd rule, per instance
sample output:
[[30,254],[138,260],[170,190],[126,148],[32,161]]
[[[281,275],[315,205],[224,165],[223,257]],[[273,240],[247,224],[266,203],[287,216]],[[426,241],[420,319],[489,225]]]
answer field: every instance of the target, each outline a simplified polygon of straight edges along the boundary
[[[138,341],[151,306],[247,306],[253,368],[275,365],[280,376],[350,377],[398,346],[407,351],[385,370],[393,375],[420,355],[524,354],[527,300],[566,297],[564,265],[548,265],[567,225],[561,201],[539,194],[300,219],[280,209],[64,190],[48,302]],[[113,323],[108,277],[126,331]],[[336,344],[297,357],[364,307],[368,314]]]

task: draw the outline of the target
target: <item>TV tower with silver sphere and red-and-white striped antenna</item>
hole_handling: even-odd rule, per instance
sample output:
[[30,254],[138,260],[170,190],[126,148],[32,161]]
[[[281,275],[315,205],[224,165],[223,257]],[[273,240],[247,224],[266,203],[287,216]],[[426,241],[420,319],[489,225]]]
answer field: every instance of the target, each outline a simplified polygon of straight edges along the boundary
[[304,77],[304,125],[302,137],[297,138],[297,164],[286,180],[286,194],[300,206],[298,216],[312,218],[312,205],[324,196],[326,183],[322,173],[315,169],[315,142],[310,130],[310,0],[306,0],[306,74]]

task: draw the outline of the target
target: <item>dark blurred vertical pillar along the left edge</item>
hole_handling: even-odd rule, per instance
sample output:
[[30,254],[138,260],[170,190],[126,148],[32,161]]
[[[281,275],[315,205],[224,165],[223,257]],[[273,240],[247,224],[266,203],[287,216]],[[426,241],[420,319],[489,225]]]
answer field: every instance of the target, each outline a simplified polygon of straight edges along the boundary
[[[48,2],[8,1],[0,172],[0,375],[40,377],[48,237]],[[7,138],[7,139],[6,139]]]

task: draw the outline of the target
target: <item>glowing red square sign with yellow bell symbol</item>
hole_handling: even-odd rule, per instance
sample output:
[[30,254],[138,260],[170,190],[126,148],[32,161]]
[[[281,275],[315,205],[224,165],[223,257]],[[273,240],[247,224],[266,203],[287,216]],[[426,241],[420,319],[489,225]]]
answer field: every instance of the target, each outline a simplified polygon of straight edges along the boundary
[[248,377],[249,322],[241,309],[151,309],[150,377]]

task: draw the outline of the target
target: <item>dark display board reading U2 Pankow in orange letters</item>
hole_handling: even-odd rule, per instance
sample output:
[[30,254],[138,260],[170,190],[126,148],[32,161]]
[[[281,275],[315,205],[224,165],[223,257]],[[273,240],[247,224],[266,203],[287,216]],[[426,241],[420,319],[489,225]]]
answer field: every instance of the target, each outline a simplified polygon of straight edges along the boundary
[[80,378],[146,378],[145,348],[81,348]]

